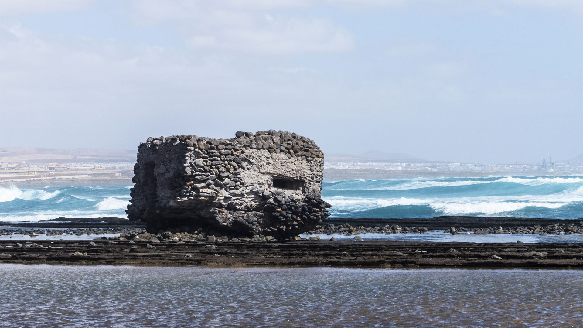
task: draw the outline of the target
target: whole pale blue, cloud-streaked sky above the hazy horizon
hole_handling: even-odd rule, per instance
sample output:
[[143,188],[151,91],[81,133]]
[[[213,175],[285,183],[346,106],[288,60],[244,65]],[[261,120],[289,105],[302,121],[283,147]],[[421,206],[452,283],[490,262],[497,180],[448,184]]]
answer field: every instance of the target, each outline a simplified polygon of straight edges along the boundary
[[288,130],[326,153],[583,153],[580,0],[0,0],[0,146]]

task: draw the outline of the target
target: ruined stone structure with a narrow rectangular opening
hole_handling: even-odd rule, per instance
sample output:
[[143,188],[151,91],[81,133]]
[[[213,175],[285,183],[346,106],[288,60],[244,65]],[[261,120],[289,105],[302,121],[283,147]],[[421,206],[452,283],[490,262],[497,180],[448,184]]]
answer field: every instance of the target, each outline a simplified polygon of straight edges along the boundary
[[321,199],[324,153],[295,133],[173,135],[148,138],[138,151],[126,212],[149,232],[285,238],[329,215]]

